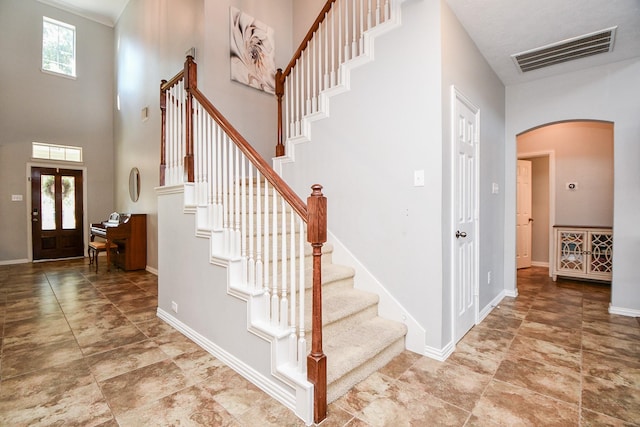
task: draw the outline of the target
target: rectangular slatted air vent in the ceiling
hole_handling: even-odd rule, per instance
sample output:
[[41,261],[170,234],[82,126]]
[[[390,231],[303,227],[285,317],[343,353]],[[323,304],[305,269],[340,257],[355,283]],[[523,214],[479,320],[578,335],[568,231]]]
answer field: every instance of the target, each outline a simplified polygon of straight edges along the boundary
[[538,68],[611,52],[616,28],[607,28],[584,36],[574,37],[536,49],[511,55],[523,73]]

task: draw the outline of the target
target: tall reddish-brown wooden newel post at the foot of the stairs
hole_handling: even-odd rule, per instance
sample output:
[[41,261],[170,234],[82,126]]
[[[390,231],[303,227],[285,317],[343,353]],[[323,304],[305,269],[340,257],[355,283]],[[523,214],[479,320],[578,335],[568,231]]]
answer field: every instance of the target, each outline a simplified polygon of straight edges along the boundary
[[313,308],[311,353],[307,356],[307,375],[314,385],[313,419],[327,417],[327,356],[322,350],[322,245],[327,241],[327,198],[315,184],[307,198],[307,241],[313,248]]

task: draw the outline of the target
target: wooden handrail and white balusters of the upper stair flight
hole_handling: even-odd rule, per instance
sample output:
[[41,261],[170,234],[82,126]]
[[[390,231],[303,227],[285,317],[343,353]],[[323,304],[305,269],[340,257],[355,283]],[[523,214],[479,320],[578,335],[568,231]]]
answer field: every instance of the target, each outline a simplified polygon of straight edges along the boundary
[[278,141],[303,134],[302,119],[322,109],[320,94],[343,85],[341,65],[366,50],[366,32],[391,18],[393,0],[327,0],[284,69],[276,73]]

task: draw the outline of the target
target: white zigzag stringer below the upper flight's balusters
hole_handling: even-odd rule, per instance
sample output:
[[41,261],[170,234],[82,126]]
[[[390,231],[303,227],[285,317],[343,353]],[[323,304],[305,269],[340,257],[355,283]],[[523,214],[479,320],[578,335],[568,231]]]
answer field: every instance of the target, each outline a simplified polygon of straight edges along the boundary
[[[339,83],[320,92],[318,96],[317,111],[311,114],[306,114],[302,117],[300,120],[300,134],[294,137],[289,137],[284,142],[284,156],[274,157],[272,159],[273,168],[280,176],[282,176],[282,167],[284,164],[295,162],[296,145],[311,142],[311,123],[329,117],[330,99],[350,90],[351,70],[368,64],[374,60],[374,45],[376,37],[382,36],[383,34],[386,34],[402,25],[401,10],[402,3],[405,1],[406,0],[391,0],[391,14],[389,19],[363,33],[363,53],[340,64],[338,67]],[[288,126],[288,124],[285,125]]]

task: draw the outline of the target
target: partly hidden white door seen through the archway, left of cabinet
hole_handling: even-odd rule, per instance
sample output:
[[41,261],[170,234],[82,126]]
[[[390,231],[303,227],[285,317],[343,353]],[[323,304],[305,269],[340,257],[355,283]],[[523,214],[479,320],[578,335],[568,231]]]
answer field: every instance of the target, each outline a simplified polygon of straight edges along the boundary
[[531,267],[531,161],[518,160],[516,172],[516,262]]

